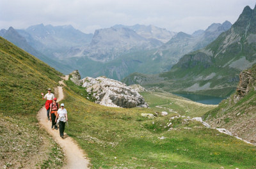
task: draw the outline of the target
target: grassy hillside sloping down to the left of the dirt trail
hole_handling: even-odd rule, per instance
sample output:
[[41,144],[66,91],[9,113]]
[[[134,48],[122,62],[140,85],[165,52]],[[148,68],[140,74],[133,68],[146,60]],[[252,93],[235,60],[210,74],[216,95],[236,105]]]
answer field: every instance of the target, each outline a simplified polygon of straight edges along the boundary
[[36,119],[44,105],[40,93],[54,88],[60,75],[0,37],[0,166],[3,168],[49,165],[60,168],[63,164],[60,147],[39,129]]

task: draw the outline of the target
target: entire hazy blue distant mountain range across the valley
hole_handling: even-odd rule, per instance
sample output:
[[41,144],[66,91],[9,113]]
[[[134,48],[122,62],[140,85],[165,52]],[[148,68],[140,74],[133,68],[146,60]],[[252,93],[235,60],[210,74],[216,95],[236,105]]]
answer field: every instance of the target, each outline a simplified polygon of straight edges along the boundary
[[[84,34],[72,26],[39,24],[16,32],[13,28],[2,29],[0,36],[63,73],[76,69],[82,77],[122,80],[136,71],[154,74],[169,71],[182,55],[209,44],[230,26],[226,21],[212,24],[205,31],[186,34],[156,26],[116,25]],[[6,36],[6,32],[10,35]],[[20,41],[26,43],[20,45]]]

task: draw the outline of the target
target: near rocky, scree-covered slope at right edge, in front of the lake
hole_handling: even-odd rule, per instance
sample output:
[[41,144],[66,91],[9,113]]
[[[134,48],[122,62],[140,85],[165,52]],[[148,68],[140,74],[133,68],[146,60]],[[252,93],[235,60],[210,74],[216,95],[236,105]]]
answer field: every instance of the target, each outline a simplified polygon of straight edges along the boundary
[[204,119],[216,128],[226,128],[234,135],[256,143],[256,65],[239,75],[236,92],[223,100]]

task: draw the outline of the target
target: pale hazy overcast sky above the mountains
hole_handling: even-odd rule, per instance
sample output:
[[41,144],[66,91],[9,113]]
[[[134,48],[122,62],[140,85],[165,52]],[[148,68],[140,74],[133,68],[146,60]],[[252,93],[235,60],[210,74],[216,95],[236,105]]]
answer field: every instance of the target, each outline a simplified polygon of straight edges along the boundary
[[84,33],[115,24],[145,24],[193,33],[212,23],[236,22],[254,0],[0,0],[0,29],[71,24]]

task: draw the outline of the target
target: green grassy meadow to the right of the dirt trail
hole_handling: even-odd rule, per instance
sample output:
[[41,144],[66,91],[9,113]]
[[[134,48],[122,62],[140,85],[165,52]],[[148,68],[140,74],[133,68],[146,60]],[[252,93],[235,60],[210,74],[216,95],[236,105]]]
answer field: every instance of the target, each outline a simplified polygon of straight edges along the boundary
[[256,168],[256,147],[200,122],[170,120],[175,114],[148,119],[141,113],[154,114],[152,108],[104,107],[68,87],[64,92],[65,131],[88,154],[92,168]]

